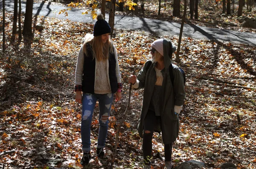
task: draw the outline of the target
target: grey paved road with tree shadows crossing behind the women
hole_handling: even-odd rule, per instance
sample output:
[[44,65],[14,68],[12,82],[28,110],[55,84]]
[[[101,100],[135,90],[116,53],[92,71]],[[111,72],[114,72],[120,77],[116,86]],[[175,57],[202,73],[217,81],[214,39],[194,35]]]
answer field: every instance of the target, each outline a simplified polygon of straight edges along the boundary
[[[3,8],[3,2],[0,2],[0,8]],[[72,8],[68,11],[68,17],[64,14],[58,14],[63,6],[53,6],[50,2],[34,3],[33,14],[45,17],[56,17],[59,19],[68,19],[75,22],[95,23],[90,14],[81,14],[84,10]],[[22,2],[22,11],[25,12],[26,2]],[[13,0],[6,0],[6,10],[13,10]],[[106,14],[108,20],[108,14]],[[130,17],[123,15],[115,16],[115,28],[126,30],[148,31],[156,35],[179,35],[180,23],[146,19],[142,17]],[[256,34],[237,31],[221,30],[217,28],[208,28],[197,25],[185,24],[183,28],[183,37],[192,37],[195,39],[218,39],[220,42],[235,42],[256,46]]]

